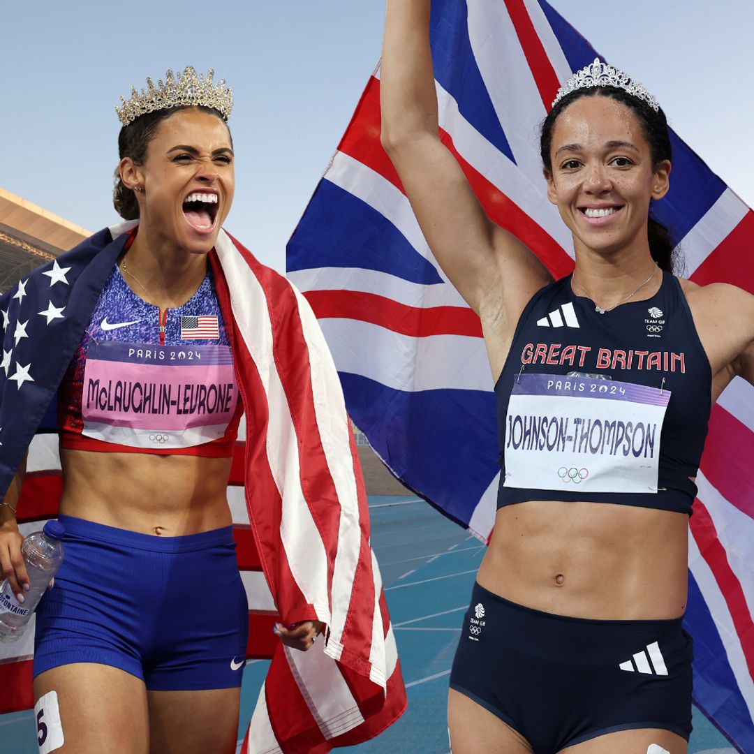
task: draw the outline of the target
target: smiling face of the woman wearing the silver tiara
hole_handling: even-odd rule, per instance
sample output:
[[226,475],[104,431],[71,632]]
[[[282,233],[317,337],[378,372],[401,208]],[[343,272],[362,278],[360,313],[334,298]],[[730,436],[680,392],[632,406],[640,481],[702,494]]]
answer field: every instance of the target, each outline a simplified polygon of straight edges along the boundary
[[558,116],[545,170],[556,204],[579,250],[648,250],[651,199],[669,188],[670,162],[654,164],[642,124],[611,97],[581,97]]

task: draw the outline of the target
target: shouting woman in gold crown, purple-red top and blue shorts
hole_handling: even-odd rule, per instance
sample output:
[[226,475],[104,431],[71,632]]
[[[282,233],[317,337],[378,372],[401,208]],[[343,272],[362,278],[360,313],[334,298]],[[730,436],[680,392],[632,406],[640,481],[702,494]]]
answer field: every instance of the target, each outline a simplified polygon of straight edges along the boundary
[[[115,208],[139,224],[59,389],[66,559],[38,608],[34,693],[57,698],[60,752],[236,746],[248,607],[225,489],[243,406],[207,262],[233,201],[232,100],[191,68],[182,83],[118,110]],[[22,478],[0,505],[20,600]],[[320,629],[277,633],[305,650]]]

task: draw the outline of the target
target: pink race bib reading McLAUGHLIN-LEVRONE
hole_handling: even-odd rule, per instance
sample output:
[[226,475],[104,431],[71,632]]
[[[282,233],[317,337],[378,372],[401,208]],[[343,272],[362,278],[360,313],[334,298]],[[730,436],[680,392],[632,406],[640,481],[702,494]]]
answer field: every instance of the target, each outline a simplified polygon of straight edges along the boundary
[[81,395],[87,437],[133,447],[201,445],[225,434],[236,403],[227,345],[89,343]]

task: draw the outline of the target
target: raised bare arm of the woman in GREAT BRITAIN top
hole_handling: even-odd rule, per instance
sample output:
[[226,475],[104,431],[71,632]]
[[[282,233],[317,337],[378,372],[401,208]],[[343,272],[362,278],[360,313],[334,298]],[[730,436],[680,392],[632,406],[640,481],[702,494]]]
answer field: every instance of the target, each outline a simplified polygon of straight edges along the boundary
[[524,244],[489,220],[440,142],[429,18],[430,0],[388,0],[380,75],[382,144],[432,253],[487,325],[486,335],[492,323],[496,333],[500,326],[512,330],[550,275]]

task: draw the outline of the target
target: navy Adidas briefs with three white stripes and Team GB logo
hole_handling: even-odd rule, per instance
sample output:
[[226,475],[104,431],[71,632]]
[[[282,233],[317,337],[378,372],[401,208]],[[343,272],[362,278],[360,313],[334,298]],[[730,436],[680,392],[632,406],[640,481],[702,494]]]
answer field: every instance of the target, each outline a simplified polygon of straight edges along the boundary
[[691,636],[671,621],[593,621],[532,610],[474,585],[450,688],[535,754],[615,731],[691,734]]

